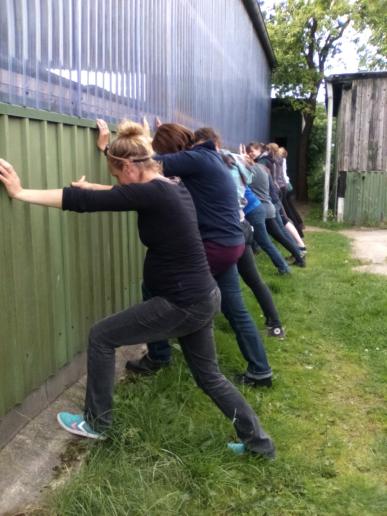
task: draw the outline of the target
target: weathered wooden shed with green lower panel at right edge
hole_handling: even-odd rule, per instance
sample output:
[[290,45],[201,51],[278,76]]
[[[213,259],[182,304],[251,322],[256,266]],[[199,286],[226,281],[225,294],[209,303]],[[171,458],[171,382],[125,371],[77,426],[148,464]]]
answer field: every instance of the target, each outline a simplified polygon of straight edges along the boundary
[[337,118],[337,218],[356,225],[386,224],[387,71],[332,75],[326,81],[328,118],[329,113]]

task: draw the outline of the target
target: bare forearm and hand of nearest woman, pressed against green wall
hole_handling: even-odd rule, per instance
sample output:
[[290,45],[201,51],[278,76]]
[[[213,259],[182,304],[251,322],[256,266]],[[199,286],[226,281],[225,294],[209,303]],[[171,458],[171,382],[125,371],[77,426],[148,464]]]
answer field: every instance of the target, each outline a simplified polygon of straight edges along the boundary
[[0,181],[7,189],[11,199],[17,199],[30,204],[39,204],[40,206],[62,208],[62,189],[29,190],[23,188],[15,169],[4,159],[0,159]]

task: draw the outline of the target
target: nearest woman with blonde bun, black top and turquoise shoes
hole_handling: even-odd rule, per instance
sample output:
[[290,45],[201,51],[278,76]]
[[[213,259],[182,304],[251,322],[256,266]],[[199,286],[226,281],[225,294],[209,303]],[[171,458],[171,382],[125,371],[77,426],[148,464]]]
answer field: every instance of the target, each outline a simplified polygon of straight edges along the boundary
[[148,247],[144,280],[154,297],[97,322],[90,330],[84,414],[61,412],[58,422],[70,433],[106,438],[112,424],[115,349],[123,345],[179,339],[197,384],[231,419],[242,445],[265,457],[274,445],[239,391],[219,371],[212,321],[220,294],[201,241],[191,196],[181,182],[160,174],[151,159],[142,126],[123,123],[111,144],[108,163],[118,186],[87,183],[70,188],[23,189],[12,165],[0,160],[0,181],[11,198],[78,212],[138,212],[142,242]]

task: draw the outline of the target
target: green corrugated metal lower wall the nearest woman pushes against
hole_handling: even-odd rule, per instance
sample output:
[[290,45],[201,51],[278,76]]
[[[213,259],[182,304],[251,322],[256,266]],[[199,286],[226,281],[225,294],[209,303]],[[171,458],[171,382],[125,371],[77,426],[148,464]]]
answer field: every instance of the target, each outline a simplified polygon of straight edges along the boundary
[[[0,156],[30,188],[109,182],[94,122],[0,104]],[[136,215],[10,201],[0,187],[0,417],[85,349],[90,325],[140,296]]]

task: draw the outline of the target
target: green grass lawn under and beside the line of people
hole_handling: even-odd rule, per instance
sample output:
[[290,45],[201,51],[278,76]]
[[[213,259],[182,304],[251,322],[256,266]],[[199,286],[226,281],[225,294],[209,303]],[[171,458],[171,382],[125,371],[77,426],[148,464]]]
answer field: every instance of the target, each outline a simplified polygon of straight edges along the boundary
[[[387,513],[387,280],[352,272],[338,233],[310,233],[307,244],[308,267],[292,277],[258,257],[287,338],[265,338],[274,387],[243,392],[275,439],[277,460],[227,451],[232,426],[196,388],[176,348],[173,367],[118,386],[112,439],[81,443],[84,464],[54,490],[47,514]],[[263,328],[255,300],[246,290],[245,297]],[[221,317],[216,341],[222,370],[243,370]]]

